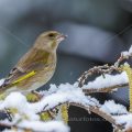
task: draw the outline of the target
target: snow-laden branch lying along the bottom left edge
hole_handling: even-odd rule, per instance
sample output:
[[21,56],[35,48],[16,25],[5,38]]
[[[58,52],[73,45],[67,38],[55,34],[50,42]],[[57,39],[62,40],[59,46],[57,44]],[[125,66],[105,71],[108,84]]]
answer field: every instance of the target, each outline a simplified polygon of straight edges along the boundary
[[0,127],[11,129],[12,132],[14,132],[14,130],[15,132],[19,132],[20,130],[25,132],[69,132],[68,127],[66,127],[61,121],[50,121],[50,122],[24,121],[19,124],[0,122]]

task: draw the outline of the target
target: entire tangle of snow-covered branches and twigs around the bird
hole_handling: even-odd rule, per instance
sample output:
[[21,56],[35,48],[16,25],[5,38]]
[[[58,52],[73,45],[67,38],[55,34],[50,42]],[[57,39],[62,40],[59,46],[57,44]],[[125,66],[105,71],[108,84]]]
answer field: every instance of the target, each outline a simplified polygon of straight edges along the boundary
[[[75,106],[89,113],[94,112],[100,116],[113,124],[118,131],[131,132],[132,113],[124,106],[116,103],[113,100],[101,105],[99,100],[89,96],[91,92],[109,92],[129,86],[130,78],[128,78],[127,72],[121,68],[121,63],[131,57],[132,47],[129,52],[123,52],[114,65],[96,66],[85,72],[78,82],[74,85],[51,85],[48,90],[38,92],[41,98],[35,95],[35,99],[32,99],[34,96],[30,96],[32,102],[29,101],[29,97],[20,92],[11,92],[0,101],[0,112],[8,116],[8,118],[0,120],[0,125],[11,128],[4,132],[13,131],[13,129],[16,131],[30,130],[31,132],[69,132],[69,128],[64,123],[68,118],[67,106]],[[112,73],[117,73],[117,75],[112,75]],[[101,76],[85,85],[86,79],[94,74]],[[3,79],[0,84],[2,82]],[[63,108],[63,106],[65,107]]]

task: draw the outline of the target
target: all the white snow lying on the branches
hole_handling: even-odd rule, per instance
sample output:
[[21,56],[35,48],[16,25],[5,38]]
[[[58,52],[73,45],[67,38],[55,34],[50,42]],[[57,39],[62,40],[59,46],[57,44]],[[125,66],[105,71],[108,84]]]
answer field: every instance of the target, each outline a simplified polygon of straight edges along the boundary
[[[122,55],[128,56],[132,54],[132,46],[129,52],[123,52]],[[127,65],[127,64],[124,64]],[[4,79],[0,80],[0,86],[3,84]],[[128,84],[129,79],[125,72],[119,75],[105,75],[97,77],[94,81],[89,81],[84,85],[82,88],[78,87],[78,82],[74,85],[62,84],[59,86],[51,85],[48,90],[41,91],[43,98],[37,101],[30,103],[26,98],[20,92],[11,92],[4,100],[0,101],[0,110],[6,108],[14,108],[18,113],[13,116],[12,122],[9,120],[1,120],[1,123],[7,123],[10,125],[16,124],[22,132],[22,128],[32,129],[33,131],[42,132],[69,132],[69,128],[66,127],[61,121],[40,121],[38,112],[51,110],[54,107],[66,103],[76,102],[82,106],[92,106],[100,108],[106,114],[111,116],[118,124],[123,124],[125,129],[132,125],[132,113],[128,112],[127,108],[122,105],[116,103],[113,100],[108,100],[103,105],[90,96],[85,96],[82,89],[100,89],[112,87],[116,85]],[[23,118],[26,117],[26,118]],[[4,130],[3,132],[12,132],[10,130]]]

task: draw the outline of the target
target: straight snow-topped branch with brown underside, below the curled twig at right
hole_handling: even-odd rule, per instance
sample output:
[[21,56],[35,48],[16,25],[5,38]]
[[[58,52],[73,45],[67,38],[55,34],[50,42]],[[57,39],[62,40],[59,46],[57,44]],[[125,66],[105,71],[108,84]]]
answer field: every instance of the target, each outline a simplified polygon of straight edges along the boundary
[[129,86],[129,79],[125,72],[118,75],[108,75],[97,77],[94,81],[82,86],[82,90],[86,94],[92,92],[111,92],[118,88],[124,88]]

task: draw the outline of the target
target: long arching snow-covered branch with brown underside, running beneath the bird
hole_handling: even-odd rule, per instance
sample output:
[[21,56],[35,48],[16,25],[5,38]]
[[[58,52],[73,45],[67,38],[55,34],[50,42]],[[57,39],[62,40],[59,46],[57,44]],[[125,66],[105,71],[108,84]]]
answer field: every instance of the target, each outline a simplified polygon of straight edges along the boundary
[[[120,117],[122,118],[122,116],[125,116],[127,118],[129,116],[130,117],[132,116],[127,111],[125,107],[121,105],[116,105],[114,101],[108,101],[105,102],[105,105],[100,105],[97,99],[91,98],[90,96],[85,96],[82,90],[77,87],[77,84],[75,85],[65,84],[58,87],[55,85],[51,85],[48,91],[43,91],[41,94],[43,94],[43,98],[38,102],[34,103],[28,102],[26,98],[19,92],[10,94],[6,98],[6,100],[0,102],[0,110],[15,108],[18,112],[16,114],[14,114],[12,121],[3,120],[0,121],[0,123],[8,124],[8,127],[12,125],[18,127],[19,129],[23,128],[35,131],[37,129],[37,124],[38,127],[43,124],[42,122],[38,121],[40,120],[38,113],[50,111],[65,103],[82,108],[87,110],[89,113],[95,112],[96,114],[102,117],[103,119],[112,123],[119,130],[122,129],[127,130],[128,125],[132,122],[132,119],[130,119],[129,122],[127,120],[124,121],[122,120],[122,122],[119,122]],[[26,117],[26,119],[24,119],[24,117]],[[35,122],[38,123],[36,123],[36,125],[32,125]],[[43,127],[46,127],[46,123],[45,125],[43,124]],[[45,129],[43,128],[43,130]]]

